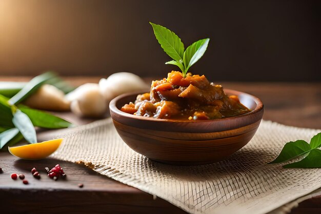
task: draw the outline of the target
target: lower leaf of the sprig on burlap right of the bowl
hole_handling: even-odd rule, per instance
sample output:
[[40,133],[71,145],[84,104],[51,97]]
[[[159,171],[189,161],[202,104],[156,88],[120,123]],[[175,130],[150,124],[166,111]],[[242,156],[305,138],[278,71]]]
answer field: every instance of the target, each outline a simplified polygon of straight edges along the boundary
[[319,168],[321,167],[321,150],[312,149],[303,160],[283,166],[284,168]]

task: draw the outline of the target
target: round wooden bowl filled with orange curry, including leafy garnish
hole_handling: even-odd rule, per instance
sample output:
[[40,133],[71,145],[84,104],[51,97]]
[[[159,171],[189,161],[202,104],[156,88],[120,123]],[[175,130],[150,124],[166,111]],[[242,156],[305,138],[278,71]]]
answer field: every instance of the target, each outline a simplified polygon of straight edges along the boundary
[[[109,104],[124,142],[147,158],[175,165],[223,160],[245,146],[262,120],[263,103],[247,93],[223,90],[204,75],[188,72],[209,44],[198,40],[186,49],[169,29],[151,23],[158,43],[178,66],[153,81],[150,92],[122,94]],[[135,100],[136,99],[136,100]],[[242,104],[242,103],[244,104]]]

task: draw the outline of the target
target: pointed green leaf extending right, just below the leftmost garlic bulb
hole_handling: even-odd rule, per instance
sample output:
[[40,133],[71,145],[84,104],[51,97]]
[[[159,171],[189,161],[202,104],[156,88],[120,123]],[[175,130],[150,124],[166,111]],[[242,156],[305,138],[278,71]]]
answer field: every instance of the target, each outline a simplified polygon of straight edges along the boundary
[[45,111],[39,111],[23,105],[19,105],[18,107],[22,112],[29,116],[34,126],[52,129],[68,128],[72,126],[72,123]]

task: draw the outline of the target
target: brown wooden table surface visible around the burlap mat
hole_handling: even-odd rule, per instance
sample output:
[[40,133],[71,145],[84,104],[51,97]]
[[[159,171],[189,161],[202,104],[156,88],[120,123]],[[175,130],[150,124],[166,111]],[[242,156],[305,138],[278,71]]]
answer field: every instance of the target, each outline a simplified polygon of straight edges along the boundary
[[[26,81],[29,77],[4,77],[0,81]],[[98,82],[99,77],[66,77],[74,85]],[[321,83],[219,83],[226,88],[258,96],[265,104],[265,120],[286,125],[321,128]],[[58,113],[75,124],[92,119],[79,119],[71,113]],[[60,164],[66,180],[53,181],[46,176],[45,167]],[[169,202],[154,198],[85,166],[45,159],[18,160],[0,152],[0,210],[1,213],[186,213]],[[31,169],[41,172],[41,179],[32,177]],[[24,173],[29,185],[12,180],[11,173]],[[78,183],[84,184],[83,188]],[[321,196],[299,204],[291,213],[321,213]]]

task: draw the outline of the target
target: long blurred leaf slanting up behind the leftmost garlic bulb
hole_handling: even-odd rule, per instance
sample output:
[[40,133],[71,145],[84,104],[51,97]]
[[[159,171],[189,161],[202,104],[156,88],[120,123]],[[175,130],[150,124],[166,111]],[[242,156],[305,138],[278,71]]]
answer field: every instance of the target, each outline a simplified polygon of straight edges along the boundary
[[46,81],[56,77],[56,75],[52,72],[46,72],[41,75],[38,75],[34,77],[30,82],[28,82],[21,91],[19,91],[17,94],[12,96],[12,98],[9,100],[10,105],[18,104],[19,102],[22,102],[26,98],[28,98],[29,95],[31,95],[33,92],[35,92],[39,87],[41,87],[43,84],[46,83]]

